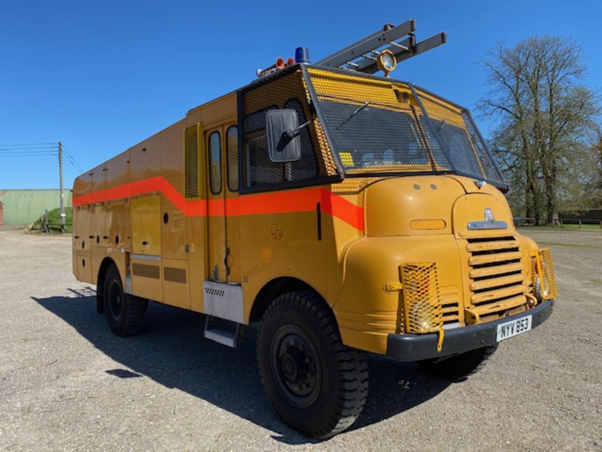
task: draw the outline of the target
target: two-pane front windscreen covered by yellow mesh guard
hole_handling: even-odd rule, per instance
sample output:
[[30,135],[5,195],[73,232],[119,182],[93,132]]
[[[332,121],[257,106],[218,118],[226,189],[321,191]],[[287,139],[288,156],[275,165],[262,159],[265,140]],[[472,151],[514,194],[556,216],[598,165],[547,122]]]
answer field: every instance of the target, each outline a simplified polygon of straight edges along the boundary
[[346,174],[452,172],[507,187],[467,110],[399,81],[308,72]]

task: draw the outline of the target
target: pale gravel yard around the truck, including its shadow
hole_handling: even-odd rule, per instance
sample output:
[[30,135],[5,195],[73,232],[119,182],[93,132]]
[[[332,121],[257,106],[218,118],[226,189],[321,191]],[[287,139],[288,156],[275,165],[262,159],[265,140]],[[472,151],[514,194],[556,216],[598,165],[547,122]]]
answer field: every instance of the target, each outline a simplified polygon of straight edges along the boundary
[[232,350],[152,303],[113,336],[69,237],[0,233],[0,450],[602,450],[602,231],[527,234],[556,265],[548,322],[460,383],[370,356],[358,422],[314,442],[268,405],[252,331]]

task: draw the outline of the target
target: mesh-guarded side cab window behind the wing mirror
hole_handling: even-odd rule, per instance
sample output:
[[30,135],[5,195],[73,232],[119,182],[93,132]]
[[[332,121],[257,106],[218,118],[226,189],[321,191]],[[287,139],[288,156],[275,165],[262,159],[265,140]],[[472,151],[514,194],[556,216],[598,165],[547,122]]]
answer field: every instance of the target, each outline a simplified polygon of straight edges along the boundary
[[[294,69],[294,68],[293,68]],[[241,171],[244,188],[287,185],[336,176],[338,169],[326,140],[320,119],[309,107],[309,94],[300,69],[284,69],[272,77],[253,83],[241,91]],[[265,113],[275,108],[293,108],[299,124],[315,118],[300,131],[301,159],[275,163],[270,160],[265,140]]]

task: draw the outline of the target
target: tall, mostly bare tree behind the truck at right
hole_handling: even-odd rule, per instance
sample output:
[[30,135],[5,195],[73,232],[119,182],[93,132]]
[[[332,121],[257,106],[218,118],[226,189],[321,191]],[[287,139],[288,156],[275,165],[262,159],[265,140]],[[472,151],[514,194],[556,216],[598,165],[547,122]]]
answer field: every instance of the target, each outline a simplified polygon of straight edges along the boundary
[[599,97],[586,85],[580,43],[543,36],[499,44],[483,65],[490,89],[477,106],[497,119],[491,144],[515,214],[550,224],[560,208],[599,202]]

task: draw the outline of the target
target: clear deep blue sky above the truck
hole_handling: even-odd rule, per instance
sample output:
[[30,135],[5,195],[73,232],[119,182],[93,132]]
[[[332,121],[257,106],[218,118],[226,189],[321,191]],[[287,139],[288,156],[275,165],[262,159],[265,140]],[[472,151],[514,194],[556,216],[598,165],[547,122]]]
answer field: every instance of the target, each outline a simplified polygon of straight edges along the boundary
[[[86,170],[249,83],[297,46],[317,61],[412,17],[419,40],[447,31],[448,42],[394,77],[473,110],[486,90],[479,60],[497,42],[534,34],[578,37],[589,83],[602,87],[600,1],[4,0],[0,145],[62,140]],[[491,124],[478,122],[486,135]],[[66,187],[78,174],[67,161]],[[56,157],[0,158],[0,189],[51,187]]]

